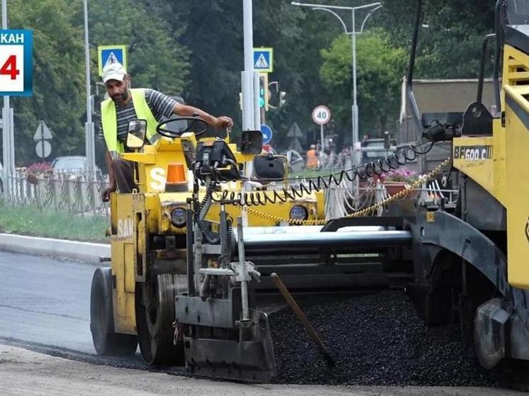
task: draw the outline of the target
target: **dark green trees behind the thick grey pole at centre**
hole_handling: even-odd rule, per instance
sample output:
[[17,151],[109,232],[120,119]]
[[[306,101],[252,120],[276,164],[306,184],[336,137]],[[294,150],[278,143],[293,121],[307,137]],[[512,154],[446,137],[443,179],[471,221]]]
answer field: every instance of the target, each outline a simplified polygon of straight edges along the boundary
[[[242,1],[207,0],[196,4],[188,0],[172,6],[175,12],[182,12],[186,25],[182,43],[191,50],[184,98],[213,114],[233,116],[235,131],[239,130],[240,72],[244,69]],[[253,3],[254,46],[274,47],[274,73],[269,81],[278,81],[280,89],[287,92],[286,106],[266,115],[276,147],[286,148],[286,133],[292,123],[298,122],[304,131],[314,128],[311,110],[327,101],[318,77],[319,50],[330,44],[339,26],[330,23],[323,13],[310,18],[307,14],[282,0]]]

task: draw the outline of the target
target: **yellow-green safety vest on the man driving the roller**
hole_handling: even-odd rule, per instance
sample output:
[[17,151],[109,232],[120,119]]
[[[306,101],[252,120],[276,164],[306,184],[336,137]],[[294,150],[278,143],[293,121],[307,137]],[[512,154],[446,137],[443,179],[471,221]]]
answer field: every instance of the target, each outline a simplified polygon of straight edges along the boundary
[[[156,125],[158,124],[149,105],[145,100],[145,89],[130,89],[134,111],[140,120],[147,120],[147,139],[152,143],[152,137],[157,136]],[[118,142],[118,119],[116,115],[116,105],[112,98],[101,102],[101,125],[105,137],[106,148],[109,152],[125,152],[123,142]]]

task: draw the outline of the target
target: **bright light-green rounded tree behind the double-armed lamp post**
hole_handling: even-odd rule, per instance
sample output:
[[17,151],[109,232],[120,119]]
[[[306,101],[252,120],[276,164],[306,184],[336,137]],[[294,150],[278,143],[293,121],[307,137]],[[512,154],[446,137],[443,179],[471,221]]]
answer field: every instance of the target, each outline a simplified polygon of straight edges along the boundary
[[[341,35],[329,50],[322,50],[321,54],[321,79],[326,89],[333,93],[331,109],[336,122],[345,125],[351,116],[350,37]],[[396,119],[405,65],[406,50],[394,47],[385,30],[368,30],[357,38],[357,100],[361,133],[382,132],[388,128],[389,120]]]

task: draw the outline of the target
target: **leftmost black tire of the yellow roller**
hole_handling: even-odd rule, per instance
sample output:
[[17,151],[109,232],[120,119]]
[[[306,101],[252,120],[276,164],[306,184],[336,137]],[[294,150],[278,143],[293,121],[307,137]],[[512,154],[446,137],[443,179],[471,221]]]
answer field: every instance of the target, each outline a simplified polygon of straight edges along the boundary
[[103,356],[133,356],[135,335],[114,332],[112,277],[110,268],[96,268],[90,293],[90,331],[94,349]]

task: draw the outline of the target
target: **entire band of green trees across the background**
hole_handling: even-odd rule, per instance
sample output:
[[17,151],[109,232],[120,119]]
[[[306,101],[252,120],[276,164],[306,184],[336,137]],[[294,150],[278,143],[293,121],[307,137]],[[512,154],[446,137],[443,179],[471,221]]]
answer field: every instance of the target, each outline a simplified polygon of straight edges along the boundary
[[[343,0],[328,4],[345,6]],[[494,1],[425,0],[417,78],[475,78],[481,38],[494,28]],[[386,0],[357,40],[360,134],[394,129],[398,86],[408,63],[416,0]],[[9,27],[33,29],[34,96],[13,98],[16,162],[35,162],[33,133],[45,120],[55,134],[52,157],[84,154],[86,92],[82,0],[9,0]],[[350,15],[340,13],[347,26]],[[254,45],[274,47],[274,73],[286,91],[283,108],[269,111],[273,144],[285,149],[296,122],[313,142],[312,109],[327,104],[335,115],[326,128],[350,141],[351,47],[330,13],[284,0],[254,0]],[[359,13],[357,21],[363,18]],[[376,29],[375,29],[376,28]],[[243,62],[243,1],[89,0],[91,91],[98,45],[126,44],[133,86],[180,94],[214,115],[233,116],[240,129]],[[277,103],[274,92],[272,102]],[[102,164],[100,164],[101,166]]]

